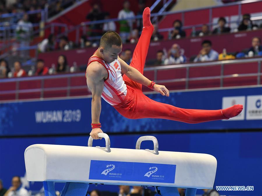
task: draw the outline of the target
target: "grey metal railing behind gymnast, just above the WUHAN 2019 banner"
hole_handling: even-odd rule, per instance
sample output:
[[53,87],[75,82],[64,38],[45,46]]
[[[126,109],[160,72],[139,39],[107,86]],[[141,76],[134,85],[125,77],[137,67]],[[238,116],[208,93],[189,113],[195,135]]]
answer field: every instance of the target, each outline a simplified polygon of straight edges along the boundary
[[[163,84],[163,83],[173,83],[174,86],[176,82],[185,81],[185,89],[189,89],[189,81],[199,81],[199,80],[210,80],[210,79],[220,79],[220,87],[222,88],[223,80],[225,78],[241,78],[241,77],[257,77],[257,85],[260,85],[261,80],[261,61],[262,58],[249,58],[249,59],[238,59],[238,60],[222,60],[222,61],[214,61],[214,62],[205,62],[205,63],[190,63],[190,64],[181,64],[181,65],[165,65],[165,66],[157,66],[157,67],[146,67],[144,69],[144,73],[147,71],[154,71],[154,81]],[[258,63],[258,72],[256,73],[246,73],[246,74],[230,74],[230,75],[224,75],[224,65],[228,64],[236,64],[236,63],[252,63],[257,62]],[[210,67],[210,66],[221,66],[221,73],[218,76],[207,76],[207,77],[190,77],[189,71],[193,67]],[[180,78],[180,79],[166,79],[166,80],[157,80],[158,71],[159,70],[172,70],[172,69],[186,69],[186,77]],[[6,82],[16,82],[16,89],[15,90],[8,90],[8,91],[0,91],[0,95],[3,94],[14,94],[15,98],[19,98],[19,93],[32,93],[32,92],[40,92],[41,96],[40,98],[44,97],[45,91],[59,91],[59,90],[66,90],[66,96],[70,96],[70,90],[71,89],[87,89],[87,85],[81,85],[81,86],[71,86],[71,78],[72,77],[80,77],[84,78],[84,73],[73,73],[73,74],[61,74],[61,75],[49,75],[49,76],[35,76],[35,77],[24,77],[24,78],[10,78],[10,79],[0,79],[0,85],[4,85]],[[48,79],[61,79],[66,78],[67,79],[67,86],[65,87],[51,87],[51,88],[44,88],[44,83]],[[41,81],[41,88],[36,89],[19,89],[19,85],[21,81]]]

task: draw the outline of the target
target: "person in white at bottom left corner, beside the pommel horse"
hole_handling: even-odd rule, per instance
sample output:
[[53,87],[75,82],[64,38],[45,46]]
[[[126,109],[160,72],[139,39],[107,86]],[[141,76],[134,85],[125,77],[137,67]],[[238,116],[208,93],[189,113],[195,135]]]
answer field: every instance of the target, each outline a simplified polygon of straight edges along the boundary
[[4,196],[28,196],[28,191],[21,187],[21,180],[19,176],[12,178],[12,186],[6,191]]

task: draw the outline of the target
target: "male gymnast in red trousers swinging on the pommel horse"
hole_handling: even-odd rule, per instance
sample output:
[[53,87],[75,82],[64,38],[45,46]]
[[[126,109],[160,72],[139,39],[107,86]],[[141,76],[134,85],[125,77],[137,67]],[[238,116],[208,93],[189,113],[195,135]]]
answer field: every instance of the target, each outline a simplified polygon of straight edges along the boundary
[[99,139],[103,133],[99,117],[101,97],[121,115],[129,119],[161,118],[185,123],[200,123],[229,119],[240,114],[243,105],[233,105],[223,110],[183,109],[154,101],[142,92],[142,85],[169,96],[168,89],[143,76],[150,38],[154,30],[150,21],[150,8],[143,12],[143,30],[133,53],[130,66],[119,58],[122,40],[116,32],[106,32],[99,48],[89,58],[85,77],[92,92],[92,131],[90,136]]

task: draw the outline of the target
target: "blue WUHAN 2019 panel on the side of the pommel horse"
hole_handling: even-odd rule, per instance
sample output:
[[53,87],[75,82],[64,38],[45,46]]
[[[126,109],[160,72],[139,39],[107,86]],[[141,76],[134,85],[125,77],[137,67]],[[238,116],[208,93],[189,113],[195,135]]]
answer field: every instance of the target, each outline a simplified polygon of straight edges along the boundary
[[89,179],[135,182],[175,182],[176,165],[91,160]]

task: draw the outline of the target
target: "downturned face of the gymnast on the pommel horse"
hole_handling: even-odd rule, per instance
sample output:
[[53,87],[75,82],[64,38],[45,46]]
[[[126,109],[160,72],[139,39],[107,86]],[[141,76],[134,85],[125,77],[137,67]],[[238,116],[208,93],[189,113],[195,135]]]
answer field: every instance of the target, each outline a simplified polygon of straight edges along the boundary
[[117,56],[122,51],[122,44],[121,46],[112,45],[111,48],[104,48],[103,46],[99,48],[99,51],[102,54],[102,58],[107,63],[112,63],[115,59],[117,59]]

